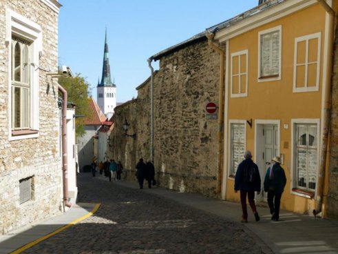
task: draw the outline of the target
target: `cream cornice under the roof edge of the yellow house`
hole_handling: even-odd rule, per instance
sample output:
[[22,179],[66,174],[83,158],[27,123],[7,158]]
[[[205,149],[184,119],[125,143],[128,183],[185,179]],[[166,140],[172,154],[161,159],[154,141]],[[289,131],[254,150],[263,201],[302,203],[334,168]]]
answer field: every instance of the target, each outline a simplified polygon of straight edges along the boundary
[[226,28],[220,28],[218,32],[215,32],[215,39],[220,42],[224,42],[228,39],[236,37],[254,28],[263,26],[266,23],[270,23],[282,17],[286,17],[289,14],[298,12],[310,6],[317,4],[316,0],[292,0],[283,1],[273,8],[253,14],[251,17],[246,17],[237,23],[229,24]]

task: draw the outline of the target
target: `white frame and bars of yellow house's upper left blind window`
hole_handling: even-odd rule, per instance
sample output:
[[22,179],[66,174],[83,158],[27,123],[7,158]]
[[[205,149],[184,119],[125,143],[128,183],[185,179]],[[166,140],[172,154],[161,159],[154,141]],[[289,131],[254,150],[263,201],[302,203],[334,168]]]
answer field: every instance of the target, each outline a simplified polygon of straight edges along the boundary
[[[240,61],[240,57],[242,55],[246,55],[246,72],[241,72],[241,61]],[[238,74],[233,75],[233,58],[234,57],[238,57]],[[245,92],[240,93],[242,84],[241,84],[241,76],[242,75],[246,75],[246,81],[245,81]],[[239,77],[238,78],[238,89],[239,89],[239,93],[233,93],[233,77]],[[238,52],[234,52],[231,54],[231,98],[235,98],[235,97],[247,97],[248,96],[248,78],[249,76],[249,50],[242,50],[242,51],[238,51]]]

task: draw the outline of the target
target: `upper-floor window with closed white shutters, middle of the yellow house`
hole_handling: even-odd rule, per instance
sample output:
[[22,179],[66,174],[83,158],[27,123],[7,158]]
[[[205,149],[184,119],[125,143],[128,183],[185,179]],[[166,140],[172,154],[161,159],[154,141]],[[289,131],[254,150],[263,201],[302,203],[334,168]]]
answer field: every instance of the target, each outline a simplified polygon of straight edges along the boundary
[[282,65],[282,26],[259,32],[260,79],[280,79]]

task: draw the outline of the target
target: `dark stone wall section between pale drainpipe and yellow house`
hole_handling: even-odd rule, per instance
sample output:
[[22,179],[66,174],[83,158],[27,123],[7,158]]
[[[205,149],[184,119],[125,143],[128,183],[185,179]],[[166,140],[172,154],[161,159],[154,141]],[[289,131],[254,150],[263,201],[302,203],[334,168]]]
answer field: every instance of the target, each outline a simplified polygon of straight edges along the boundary
[[154,79],[154,164],[162,186],[215,195],[218,120],[205,106],[218,104],[220,56],[207,41],[160,58]]

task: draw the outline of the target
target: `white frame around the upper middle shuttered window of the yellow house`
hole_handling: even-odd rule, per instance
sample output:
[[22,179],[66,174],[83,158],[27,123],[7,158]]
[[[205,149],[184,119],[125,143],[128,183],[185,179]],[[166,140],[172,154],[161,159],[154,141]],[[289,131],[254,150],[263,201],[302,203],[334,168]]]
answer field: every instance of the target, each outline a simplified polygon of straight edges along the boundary
[[[261,50],[261,37],[262,35],[279,31],[279,70],[277,77],[262,77],[262,66],[261,66],[261,58],[262,58],[262,50]],[[257,81],[258,82],[266,82],[266,81],[275,81],[282,79],[282,26],[275,26],[274,28],[269,28],[266,30],[262,30],[258,32],[258,75]]]

